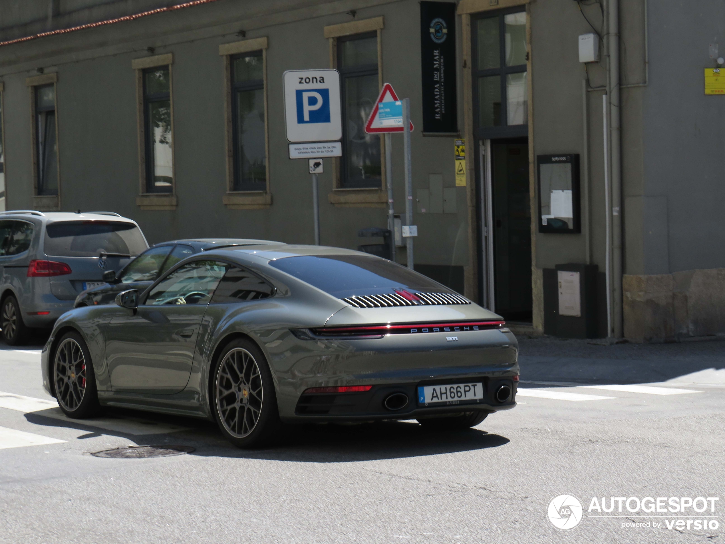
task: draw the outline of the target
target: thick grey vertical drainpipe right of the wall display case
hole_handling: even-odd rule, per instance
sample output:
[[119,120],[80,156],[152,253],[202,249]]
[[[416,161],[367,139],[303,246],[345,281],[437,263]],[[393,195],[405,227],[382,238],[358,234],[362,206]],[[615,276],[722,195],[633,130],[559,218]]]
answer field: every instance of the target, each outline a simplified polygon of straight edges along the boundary
[[609,134],[610,179],[612,186],[612,330],[621,338],[622,322],[622,146],[619,82],[619,0],[608,1]]

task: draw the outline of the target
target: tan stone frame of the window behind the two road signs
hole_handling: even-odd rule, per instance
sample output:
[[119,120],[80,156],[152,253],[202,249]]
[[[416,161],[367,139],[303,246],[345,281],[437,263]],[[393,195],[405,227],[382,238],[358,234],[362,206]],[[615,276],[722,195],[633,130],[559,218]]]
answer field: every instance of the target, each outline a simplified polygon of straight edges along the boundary
[[[375,32],[378,36],[378,91],[383,88],[383,43],[382,31],[385,28],[383,16],[371,17],[352,22],[341,22],[338,25],[328,25],[323,29],[323,35],[328,38],[330,49],[330,67],[337,70],[337,45],[338,38],[354,36],[355,34],[367,34]],[[332,192],[328,194],[328,200],[336,207],[379,207],[386,208],[388,205],[388,192],[385,176],[385,139],[380,139],[380,165],[381,165],[381,186],[370,188],[347,189],[340,186],[341,161],[334,157],[332,159]]]

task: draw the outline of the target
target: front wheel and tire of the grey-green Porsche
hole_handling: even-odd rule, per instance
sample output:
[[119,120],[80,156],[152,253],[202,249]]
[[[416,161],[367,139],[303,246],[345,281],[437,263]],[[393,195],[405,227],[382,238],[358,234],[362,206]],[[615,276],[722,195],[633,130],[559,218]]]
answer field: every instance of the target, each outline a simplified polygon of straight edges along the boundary
[[86,419],[99,413],[93,360],[78,332],[69,331],[59,340],[52,375],[56,400],[66,416]]

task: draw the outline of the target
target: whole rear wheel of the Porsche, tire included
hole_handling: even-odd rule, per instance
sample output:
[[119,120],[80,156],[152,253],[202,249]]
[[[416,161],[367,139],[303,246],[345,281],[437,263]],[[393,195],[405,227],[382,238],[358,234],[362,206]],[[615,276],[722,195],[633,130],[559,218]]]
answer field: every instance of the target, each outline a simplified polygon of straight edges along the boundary
[[237,448],[261,448],[278,437],[282,424],[272,373],[254,342],[239,338],[224,347],[210,390],[219,429]]

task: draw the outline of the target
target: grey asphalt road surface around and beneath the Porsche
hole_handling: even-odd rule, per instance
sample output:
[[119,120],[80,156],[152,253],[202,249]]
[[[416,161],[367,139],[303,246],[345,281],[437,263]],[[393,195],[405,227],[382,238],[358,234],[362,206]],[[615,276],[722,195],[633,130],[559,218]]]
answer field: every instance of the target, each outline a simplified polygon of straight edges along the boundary
[[[2,543],[725,541],[725,342],[523,340],[519,405],[476,429],[304,426],[254,452],[205,421],[58,416],[41,387],[39,348],[0,350]],[[88,455],[125,445],[196,450]],[[568,531],[547,515],[562,494],[584,509]],[[616,503],[588,511],[595,497],[607,506],[611,497],[720,499],[701,513],[647,514],[626,510],[634,500],[622,513]],[[687,529],[688,520],[708,528]],[[634,523],[645,527],[623,527]]]

